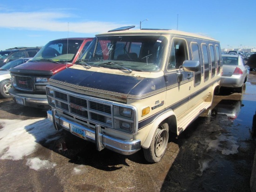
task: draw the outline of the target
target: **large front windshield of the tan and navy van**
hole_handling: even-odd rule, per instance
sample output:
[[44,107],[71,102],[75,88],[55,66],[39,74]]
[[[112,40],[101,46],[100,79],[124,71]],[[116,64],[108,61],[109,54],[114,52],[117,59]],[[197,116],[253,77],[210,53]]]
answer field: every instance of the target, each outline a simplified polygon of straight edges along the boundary
[[158,71],[167,39],[163,36],[95,37],[76,64],[135,71]]

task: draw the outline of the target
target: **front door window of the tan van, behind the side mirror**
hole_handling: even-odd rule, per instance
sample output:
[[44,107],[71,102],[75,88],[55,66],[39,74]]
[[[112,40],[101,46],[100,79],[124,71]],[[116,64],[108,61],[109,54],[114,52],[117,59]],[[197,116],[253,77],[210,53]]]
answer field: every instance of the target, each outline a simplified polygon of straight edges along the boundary
[[187,44],[185,40],[174,39],[171,45],[171,53],[167,69],[179,69],[184,60],[188,60]]

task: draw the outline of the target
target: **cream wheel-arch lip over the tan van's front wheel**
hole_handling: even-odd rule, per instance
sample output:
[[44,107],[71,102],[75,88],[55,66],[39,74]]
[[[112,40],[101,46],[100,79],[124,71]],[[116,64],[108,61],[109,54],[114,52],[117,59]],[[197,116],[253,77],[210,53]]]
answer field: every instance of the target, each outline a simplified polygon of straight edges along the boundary
[[[159,117],[156,118],[155,122],[154,122],[153,125],[151,126],[150,131],[148,132],[148,136],[147,136],[145,142],[142,144],[141,147],[143,147],[143,148],[145,148],[145,149],[148,149],[148,148],[149,148],[150,143],[151,143],[151,141],[152,141],[152,139],[153,139],[153,136],[154,136],[154,134],[155,134],[155,130],[157,129],[157,127],[158,127],[164,120],[168,119],[168,117],[170,117],[170,116],[172,116],[172,115],[174,115],[174,116],[175,116],[175,119],[176,119],[176,115],[175,115],[175,113],[173,112],[173,110],[169,110],[169,111],[167,111],[167,112],[161,114],[161,116],[159,116]],[[176,125],[177,125],[177,122],[176,122]],[[177,128],[175,128],[175,129],[177,129]],[[168,130],[168,131],[170,132],[170,127],[169,127],[169,130]]]

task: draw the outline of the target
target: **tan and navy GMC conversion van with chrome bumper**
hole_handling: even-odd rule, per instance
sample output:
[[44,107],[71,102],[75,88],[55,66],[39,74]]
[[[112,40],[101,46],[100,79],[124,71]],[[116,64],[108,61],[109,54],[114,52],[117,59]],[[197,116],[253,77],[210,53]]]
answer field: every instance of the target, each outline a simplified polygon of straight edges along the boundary
[[222,73],[217,40],[174,30],[96,35],[76,65],[47,85],[55,128],[129,155],[162,159],[179,135],[212,104]]

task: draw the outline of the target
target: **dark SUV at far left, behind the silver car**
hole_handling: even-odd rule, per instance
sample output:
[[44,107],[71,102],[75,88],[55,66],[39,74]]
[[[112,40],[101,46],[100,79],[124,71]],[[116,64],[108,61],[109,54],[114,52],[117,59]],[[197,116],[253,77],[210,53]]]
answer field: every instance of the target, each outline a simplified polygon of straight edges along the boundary
[[34,57],[41,49],[41,46],[36,47],[14,47],[4,51],[0,51],[0,67],[10,61],[20,58]]

